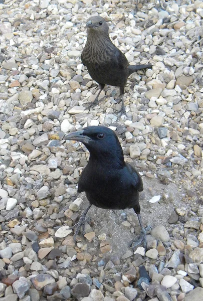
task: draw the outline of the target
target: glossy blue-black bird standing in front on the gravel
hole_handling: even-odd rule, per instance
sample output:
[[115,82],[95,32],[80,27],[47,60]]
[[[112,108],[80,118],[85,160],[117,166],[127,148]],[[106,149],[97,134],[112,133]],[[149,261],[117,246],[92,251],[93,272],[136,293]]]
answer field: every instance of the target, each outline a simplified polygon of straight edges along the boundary
[[74,239],[81,226],[85,234],[85,217],[92,205],[103,209],[133,208],[141,227],[140,237],[134,246],[142,240],[146,245],[139,206],[142,179],[136,169],[124,161],[123,150],[114,131],[105,126],[88,126],[66,135],[64,139],[81,141],[90,152],[89,163],[78,181],[78,192],[85,192],[90,205],[74,226],[77,226]]

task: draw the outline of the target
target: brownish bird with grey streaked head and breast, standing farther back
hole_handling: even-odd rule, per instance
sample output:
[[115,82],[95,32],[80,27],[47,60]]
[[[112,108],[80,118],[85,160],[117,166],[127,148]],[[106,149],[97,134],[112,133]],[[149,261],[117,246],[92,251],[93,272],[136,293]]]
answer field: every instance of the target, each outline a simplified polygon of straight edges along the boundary
[[90,106],[98,103],[99,94],[105,85],[117,86],[120,87],[122,97],[121,113],[125,113],[123,94],[128,76],[151,65],[130,65],[125,55],[111,42],[109,27],[104,18],[91,17],[86,28],[87,42],[81,60],[90,76],[100,85],[100,91]]

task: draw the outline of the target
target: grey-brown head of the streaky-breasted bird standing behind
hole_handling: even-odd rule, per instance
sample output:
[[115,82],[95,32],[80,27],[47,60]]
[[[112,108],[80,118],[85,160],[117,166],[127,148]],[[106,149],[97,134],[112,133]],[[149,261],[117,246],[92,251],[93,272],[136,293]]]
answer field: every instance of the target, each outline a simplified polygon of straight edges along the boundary
[[98,34],[107,33],[109,31],[108,24],[105,19],[99,16],[94,16],[88,19],[87,24],[85,26],[87,28],[87,32],[97,32]]

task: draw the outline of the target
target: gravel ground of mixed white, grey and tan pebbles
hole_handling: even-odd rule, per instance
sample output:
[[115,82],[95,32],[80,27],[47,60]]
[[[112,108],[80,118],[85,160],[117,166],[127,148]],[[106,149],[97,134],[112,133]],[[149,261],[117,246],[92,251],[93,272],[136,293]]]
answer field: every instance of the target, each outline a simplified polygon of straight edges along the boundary
[[[200,0],[0,0],[0,300],[203,300],[203,3]],[[81,63],[86,20],[109,21],[131,64],[125,93]],[[105,96],[105,97],[104,97]],[[67,132],[104,124],[140,172],[147,248],[132,210],[91,208],[77,193],[87,164]]]

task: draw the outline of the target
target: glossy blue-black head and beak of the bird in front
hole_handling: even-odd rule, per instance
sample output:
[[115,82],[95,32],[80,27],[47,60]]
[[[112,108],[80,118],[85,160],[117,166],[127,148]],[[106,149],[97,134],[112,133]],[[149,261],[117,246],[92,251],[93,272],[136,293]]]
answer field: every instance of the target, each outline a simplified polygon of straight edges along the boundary
[[115,132],[105,126],[88,126],[83,130],[70,133],[66,140],[82,142],[90,152],[90,158],[124,164],[123,150]]

